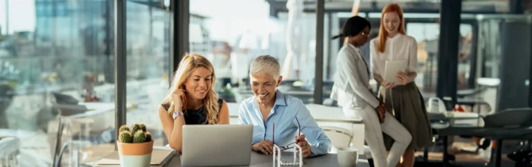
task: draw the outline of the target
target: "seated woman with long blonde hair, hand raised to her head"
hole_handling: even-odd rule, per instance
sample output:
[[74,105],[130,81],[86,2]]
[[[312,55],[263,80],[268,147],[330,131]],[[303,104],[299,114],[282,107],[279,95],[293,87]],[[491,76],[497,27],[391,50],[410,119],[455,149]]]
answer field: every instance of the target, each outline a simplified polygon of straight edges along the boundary
[[201,55],[186,54],[172,79],[172,86],[159,106],[164,134],[181,153],[183,125],[229,124],[227,103],[213,90],[213,65]]

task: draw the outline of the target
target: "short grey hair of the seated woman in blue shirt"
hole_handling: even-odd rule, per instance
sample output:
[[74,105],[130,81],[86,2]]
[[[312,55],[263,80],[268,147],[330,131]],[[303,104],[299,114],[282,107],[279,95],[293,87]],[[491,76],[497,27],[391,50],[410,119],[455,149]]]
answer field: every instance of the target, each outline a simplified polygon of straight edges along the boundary
[[279,76],[281,76],[281,65],[271,55],[260,55],[251,62],[249,67],[249,75],[256,73],[268,73],[277,81]]

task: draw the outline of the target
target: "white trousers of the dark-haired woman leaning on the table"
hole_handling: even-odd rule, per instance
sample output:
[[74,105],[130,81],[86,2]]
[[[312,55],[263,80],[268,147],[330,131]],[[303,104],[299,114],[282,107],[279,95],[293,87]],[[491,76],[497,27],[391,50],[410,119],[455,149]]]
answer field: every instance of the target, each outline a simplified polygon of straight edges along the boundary
[[[371,105],[366,105],[364,109],[353,108],[352,105],[343,107],[346,116],[359,116],[364,123],[364,140],[371,149],[371,157],[375,167],[393,167],[400,161],[402,153],[412,141],[412,136],[399,121],[386,112],[384,123],[379,122],[375,109]],[[386,157],[386,148],[382,132],[388,134],[395,140],[391,146],[390,154]]]

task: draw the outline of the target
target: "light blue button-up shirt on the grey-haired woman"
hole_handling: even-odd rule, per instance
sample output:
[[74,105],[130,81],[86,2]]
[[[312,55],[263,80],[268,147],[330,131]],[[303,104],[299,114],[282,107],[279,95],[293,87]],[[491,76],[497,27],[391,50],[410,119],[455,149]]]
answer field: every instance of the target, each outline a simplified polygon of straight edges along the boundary
[[[263,114],[260,112],[255,96],[242,101],[238,110],[238,123],[253,125],[252,143],[259,143],[267,139],[279,147],[287,147],[290,143],[294,143],[295,137],[299,135],[299,121],[301,134],[305,134],[308,143],[310,143],[313,156],[327,154],[332,147],[330,139],[319,128],[318,123],[310,115],[303,101],[285,95],[279,90],[276,91],[275,104],[266,119],[266,124],[263,123]],[[275,134],[273,135],[274,131]]]

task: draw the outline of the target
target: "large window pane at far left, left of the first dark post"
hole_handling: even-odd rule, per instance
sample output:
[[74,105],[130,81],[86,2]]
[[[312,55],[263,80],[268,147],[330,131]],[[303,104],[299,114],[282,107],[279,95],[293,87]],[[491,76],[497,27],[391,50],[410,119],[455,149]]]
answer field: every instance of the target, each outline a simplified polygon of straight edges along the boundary
[[104,49],[113,44],[94,39],[113,38],[113,19],[102,17],[111,2],[17,0],[6,13],[0,0],[0,138],[19,141],[0,150],[18,154],[18,166],[51,166],[56,148],[71,142],[80,149],[67,147],[64,166],[78,152],[84,164],[114,151],[114,55]]

